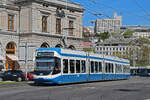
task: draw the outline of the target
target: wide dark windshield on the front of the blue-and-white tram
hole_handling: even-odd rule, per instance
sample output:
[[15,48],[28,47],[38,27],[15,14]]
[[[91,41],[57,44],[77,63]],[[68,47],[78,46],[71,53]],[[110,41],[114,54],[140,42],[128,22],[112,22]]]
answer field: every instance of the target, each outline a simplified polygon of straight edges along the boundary
[[35,74],[48,75],[60,73],[60,58],[36,57]]

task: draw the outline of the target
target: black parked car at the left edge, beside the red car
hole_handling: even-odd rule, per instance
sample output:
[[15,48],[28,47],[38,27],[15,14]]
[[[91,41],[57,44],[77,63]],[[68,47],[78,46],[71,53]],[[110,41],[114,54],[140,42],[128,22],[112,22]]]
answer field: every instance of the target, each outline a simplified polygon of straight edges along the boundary
[[4,73],[0,73],[0,81],[24,81],[25,76],[24,73],[21,70],[8,70]]

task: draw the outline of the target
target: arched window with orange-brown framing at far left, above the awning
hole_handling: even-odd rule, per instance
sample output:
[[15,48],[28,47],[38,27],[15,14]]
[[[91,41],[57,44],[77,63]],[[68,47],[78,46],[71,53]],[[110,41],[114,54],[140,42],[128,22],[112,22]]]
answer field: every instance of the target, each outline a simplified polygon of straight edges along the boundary
[[6,46],[6,54],[12,54],[15,55],[16,52],[16,45],[13,42],[10,42]]

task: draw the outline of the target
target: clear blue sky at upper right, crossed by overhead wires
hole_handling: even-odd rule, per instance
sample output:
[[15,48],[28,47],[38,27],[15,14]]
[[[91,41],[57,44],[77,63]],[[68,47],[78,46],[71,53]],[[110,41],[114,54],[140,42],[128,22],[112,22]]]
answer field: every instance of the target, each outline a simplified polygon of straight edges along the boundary
[[[117,12],[123,25],[150,25],[150,0],[70,0],[85,8],[83,25],[90,21],[108,19]],[[98,16],[95,16],[98,15]],[[108,17],[109,16],[109,17]]]

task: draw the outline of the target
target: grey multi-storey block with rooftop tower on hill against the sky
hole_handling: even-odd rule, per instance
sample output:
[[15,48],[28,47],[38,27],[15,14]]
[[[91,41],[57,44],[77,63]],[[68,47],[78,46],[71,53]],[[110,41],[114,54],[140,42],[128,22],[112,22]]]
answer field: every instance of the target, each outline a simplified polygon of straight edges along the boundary
[[113,19],[97,19],[95,21],[95,33],[120,32],[122,26],[122,16],[114,13]]

